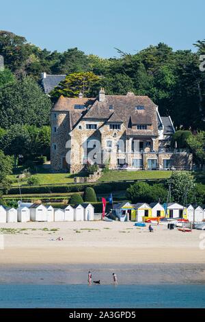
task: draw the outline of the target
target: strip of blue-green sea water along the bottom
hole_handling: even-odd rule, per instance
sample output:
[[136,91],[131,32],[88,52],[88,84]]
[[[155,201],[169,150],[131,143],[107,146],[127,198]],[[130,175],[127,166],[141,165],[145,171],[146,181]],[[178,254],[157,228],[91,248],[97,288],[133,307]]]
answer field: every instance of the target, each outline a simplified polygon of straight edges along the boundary
[[205,308],[205,285],[0,285],[0,308]]

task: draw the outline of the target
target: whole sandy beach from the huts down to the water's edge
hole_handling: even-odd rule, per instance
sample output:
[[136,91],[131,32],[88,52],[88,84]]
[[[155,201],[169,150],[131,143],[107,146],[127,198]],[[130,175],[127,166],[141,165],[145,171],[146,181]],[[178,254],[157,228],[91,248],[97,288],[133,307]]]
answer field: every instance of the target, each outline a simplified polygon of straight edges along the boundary
[[[1,234],[1,283],[36,278],[81,283],[89,269],[105,281],[115,270],[126,284],[205,282],[205,250],[199,247],[204,232],[199,230],[183,233],[159,225],[150,233],[133,223],[95,221],[6,223]],[[64,240],[55,240],[59,236]]]

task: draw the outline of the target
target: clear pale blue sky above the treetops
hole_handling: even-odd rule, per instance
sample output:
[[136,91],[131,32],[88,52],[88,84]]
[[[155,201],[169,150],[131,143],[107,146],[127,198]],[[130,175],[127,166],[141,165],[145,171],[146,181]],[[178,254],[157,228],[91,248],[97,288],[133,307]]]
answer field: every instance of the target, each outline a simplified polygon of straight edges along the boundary
[[78,47],[101,57],[165,42],[194,49],[205,38],[204,0],[4,0],[0,29],[51,51]]

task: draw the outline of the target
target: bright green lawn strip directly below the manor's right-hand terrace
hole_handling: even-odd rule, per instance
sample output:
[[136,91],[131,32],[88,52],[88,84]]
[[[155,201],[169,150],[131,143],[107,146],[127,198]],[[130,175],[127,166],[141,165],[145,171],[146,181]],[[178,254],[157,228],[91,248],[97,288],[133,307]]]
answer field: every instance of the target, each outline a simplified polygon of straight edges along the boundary
[[104,173],[98,181],[120,181],[136,179],[167,179],[172,171],[109,171]]

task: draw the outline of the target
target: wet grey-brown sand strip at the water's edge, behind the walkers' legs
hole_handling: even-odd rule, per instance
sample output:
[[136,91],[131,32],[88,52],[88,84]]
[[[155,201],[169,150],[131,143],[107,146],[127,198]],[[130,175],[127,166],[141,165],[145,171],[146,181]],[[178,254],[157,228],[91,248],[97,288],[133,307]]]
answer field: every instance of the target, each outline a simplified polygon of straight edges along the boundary
[[1,266],[0,285],[83,285],[87,284],[89,270],[92,280],[100,280],[103,285],[113,284],[113,272],[120,285],[205,284],[205,264],[47,264]]

